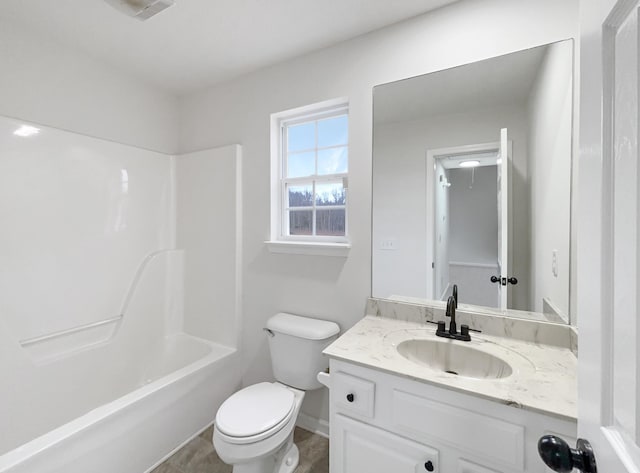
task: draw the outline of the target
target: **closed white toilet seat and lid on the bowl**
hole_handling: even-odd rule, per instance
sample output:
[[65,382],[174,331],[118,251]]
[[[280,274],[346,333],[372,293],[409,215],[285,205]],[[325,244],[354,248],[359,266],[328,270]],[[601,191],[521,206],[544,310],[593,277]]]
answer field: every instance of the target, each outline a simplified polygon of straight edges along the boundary
[[253,443],[280,431],[294,411],[294,393],[280,384],[258,383],[229,397],[215,425],[229,443]]

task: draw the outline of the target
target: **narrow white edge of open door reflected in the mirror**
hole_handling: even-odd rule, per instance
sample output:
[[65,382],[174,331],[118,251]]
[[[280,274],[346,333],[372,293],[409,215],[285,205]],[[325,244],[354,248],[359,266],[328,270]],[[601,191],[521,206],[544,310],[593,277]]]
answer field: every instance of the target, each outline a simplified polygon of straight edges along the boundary
[[507,129],[500,130],[498,165],[498,299],[501,309],[508,308],[509,281],[509,140]]

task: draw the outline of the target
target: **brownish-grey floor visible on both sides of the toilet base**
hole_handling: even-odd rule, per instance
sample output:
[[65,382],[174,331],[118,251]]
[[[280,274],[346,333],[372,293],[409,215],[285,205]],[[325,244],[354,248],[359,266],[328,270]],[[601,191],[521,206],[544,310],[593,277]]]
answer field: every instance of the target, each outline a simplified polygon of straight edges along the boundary
[[[329,440],[299,427],[293,435],[300,449],[295,473],[329,473]],[[216,455],[211,436],[208,428],[151,473],[231,473],[231,467]]]

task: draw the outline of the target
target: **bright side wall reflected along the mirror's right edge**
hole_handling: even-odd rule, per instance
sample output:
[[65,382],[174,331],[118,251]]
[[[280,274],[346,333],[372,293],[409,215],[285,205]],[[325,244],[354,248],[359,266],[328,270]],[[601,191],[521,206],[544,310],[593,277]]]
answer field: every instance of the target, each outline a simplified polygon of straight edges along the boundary
[[[569,316],[571,224],[571,108],[573,44],[549,46],[529,98],[531,302],[542,312],[548,298]],[[552,254],[557,252],[557,276]]]

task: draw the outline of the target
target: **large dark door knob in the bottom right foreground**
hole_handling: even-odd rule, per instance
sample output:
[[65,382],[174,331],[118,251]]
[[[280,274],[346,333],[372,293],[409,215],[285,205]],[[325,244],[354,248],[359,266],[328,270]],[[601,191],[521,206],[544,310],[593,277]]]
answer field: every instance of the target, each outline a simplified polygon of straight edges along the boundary
[[593,448],[584,439],[578,439],[573,449],[560,437],[545,435],[538,441],[538,453],[542,461],[558,473],[571,473],[574,468],[583,473],[598,473]]

